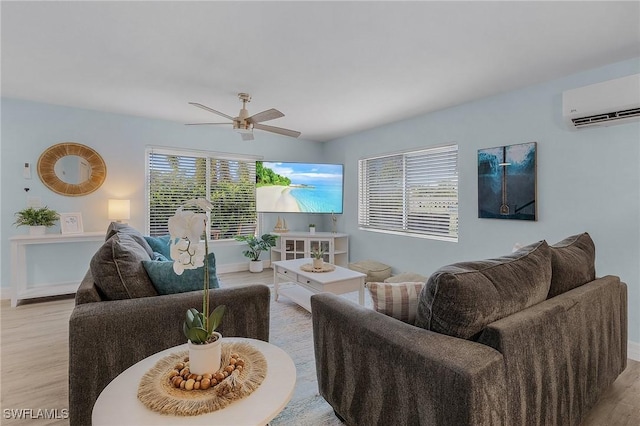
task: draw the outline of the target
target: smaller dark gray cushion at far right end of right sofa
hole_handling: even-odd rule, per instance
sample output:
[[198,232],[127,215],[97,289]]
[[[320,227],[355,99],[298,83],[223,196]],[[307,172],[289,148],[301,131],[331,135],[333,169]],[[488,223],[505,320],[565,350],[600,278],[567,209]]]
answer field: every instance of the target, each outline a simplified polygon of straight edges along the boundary
[[596,246],[588,233],[572,235],[551,248],[551,287],[554,297],[596,279]]

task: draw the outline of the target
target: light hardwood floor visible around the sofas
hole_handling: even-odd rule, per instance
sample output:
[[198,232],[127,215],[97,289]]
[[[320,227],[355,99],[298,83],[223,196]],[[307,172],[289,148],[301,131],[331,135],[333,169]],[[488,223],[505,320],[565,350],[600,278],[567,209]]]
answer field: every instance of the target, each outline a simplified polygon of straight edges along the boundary
[[[221,274],[225,286],[247,282],[273,283],[273,272]],[[47,409],[63,417],[68,407],[68,320],[73,309],[71,297],[10,307],[0,303],[0,406],[3,425],[68,425],[65,419],[8,419],[11,409]],[[87,377],[87,380],[91,380]],[[57,411],[54,411],[57,410]],[[640,424],[640,362],[629,360],[627,369],[600,398],[585,418],[583,426],[631,426]],[[309,425],[312,426],[312,425]]]

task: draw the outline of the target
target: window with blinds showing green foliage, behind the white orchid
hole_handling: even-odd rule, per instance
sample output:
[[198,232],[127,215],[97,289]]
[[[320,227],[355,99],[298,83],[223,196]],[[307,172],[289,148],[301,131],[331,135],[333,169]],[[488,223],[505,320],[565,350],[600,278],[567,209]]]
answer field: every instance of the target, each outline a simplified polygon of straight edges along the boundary
[[207,152],[147,150],[149,235],[169,233],[167,220],[191,198],[211,200],[213,240],[256,231],[256,157]]

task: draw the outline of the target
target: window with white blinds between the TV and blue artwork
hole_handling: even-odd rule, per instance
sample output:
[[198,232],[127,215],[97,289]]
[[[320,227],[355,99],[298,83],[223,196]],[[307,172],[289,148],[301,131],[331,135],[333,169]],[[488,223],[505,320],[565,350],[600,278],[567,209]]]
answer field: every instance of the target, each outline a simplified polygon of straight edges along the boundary
[[458,241],[458,145],[358,162],[360,229]]

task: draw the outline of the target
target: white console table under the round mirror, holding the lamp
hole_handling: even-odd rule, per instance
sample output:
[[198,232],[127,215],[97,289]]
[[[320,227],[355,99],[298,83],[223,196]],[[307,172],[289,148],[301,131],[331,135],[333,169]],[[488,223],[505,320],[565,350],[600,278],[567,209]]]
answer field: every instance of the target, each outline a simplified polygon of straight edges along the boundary
[[[27,250],[28,245],[68,244],[104,241],[104,232],[84,232],[81,234],[45,234],[16,235],[9,238],[11,242],[11,306],[16,307],[18,301],[34,297],[55,296],[75,293],[80,281],[73,283],[47,283],[29,288],[27,286]],[[88,265],[83,265],[83,267]],[[84,274],[85,271],[82,271]]]

